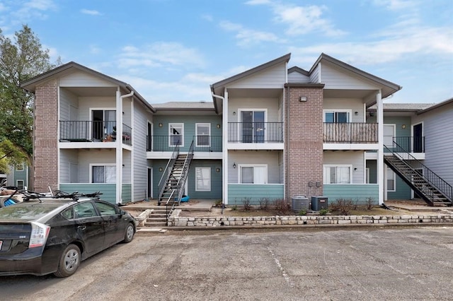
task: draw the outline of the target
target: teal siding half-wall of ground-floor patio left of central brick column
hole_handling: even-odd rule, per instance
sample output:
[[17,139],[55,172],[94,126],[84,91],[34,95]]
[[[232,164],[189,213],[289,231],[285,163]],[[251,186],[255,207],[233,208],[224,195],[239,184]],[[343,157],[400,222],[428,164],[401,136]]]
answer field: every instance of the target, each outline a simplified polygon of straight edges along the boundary
[[228,184],[228,204],[242,206],[244,198],[250,198],[253,205],[261,199],[284,199],[283,184]]

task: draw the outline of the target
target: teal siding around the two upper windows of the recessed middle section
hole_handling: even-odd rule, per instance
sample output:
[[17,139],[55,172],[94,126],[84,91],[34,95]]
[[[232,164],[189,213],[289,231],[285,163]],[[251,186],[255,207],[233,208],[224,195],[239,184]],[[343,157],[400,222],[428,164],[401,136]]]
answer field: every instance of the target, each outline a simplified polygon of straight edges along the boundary
[[[159,124],[162,127],[159,127]],[[184,124],[184,146],[180,148],[180,151],[188,151],[190,143],[196,133],[195,124],[197,123],[210,123],[211,124],[211,136],[222,136],[222,117],[219,116],[154,116],[154,136],[168,136],[168,124]],[[221,127],[217,129],[217,124]]]

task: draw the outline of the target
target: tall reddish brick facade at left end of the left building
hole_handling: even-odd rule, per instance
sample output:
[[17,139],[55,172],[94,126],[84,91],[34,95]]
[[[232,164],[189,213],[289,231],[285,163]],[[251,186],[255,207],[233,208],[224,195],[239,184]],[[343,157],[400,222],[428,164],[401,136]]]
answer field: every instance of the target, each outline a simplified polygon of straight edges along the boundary
[[33,178],[35,191],[58,185],[58,93],[57,81],[48,81],[35,90]]

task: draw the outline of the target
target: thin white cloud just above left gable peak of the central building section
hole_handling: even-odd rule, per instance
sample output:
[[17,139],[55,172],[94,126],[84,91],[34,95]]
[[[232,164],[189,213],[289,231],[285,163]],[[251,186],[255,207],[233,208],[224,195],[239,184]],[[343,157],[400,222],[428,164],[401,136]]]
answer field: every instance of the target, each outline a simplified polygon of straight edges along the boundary
[[275,43],[285,42],[285,40],[281,39],[280,37],[273,33],[244,28],[242,25],[237,23],[222,21],[220,22],[219,25],[224,30],[236,32],[235,37],[238,40],[239,46],[247,47],[259,42],[275,42]]

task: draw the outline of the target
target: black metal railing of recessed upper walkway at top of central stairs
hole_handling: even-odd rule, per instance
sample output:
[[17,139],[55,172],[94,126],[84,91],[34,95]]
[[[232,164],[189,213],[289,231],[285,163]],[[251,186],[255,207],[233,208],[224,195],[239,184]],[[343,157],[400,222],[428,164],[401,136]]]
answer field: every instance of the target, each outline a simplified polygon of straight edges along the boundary
[[[187,151],[190,142],[194,141],[194,152],[222,152],[222,136],[198,135],[193,136],[192,138],[193,139],[187,143],[188,145],[180,143],[180,151]],[[173,151],[176,146],[175,143],[173,143],[175,141],[175,135],[147,136],[147,151]]]

